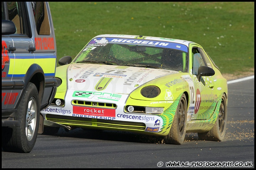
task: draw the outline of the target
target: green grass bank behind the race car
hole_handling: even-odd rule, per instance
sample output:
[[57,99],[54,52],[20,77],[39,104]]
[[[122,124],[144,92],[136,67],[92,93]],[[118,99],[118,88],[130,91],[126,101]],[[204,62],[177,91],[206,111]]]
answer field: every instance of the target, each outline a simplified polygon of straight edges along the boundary
[[[57,59],[100,34],[189,40],[222,73],[254,73],[254,2],[49,2]],[[57,64],[59,66],[59,64]]]

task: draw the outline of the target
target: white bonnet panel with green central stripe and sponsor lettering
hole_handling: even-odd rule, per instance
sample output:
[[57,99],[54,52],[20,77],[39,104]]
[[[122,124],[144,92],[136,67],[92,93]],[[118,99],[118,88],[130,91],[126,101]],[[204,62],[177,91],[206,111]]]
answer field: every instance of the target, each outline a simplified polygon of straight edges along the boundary
[[74,63],[67,68],[69,90],[130,94],[139,86],[176,71],[154,68]]

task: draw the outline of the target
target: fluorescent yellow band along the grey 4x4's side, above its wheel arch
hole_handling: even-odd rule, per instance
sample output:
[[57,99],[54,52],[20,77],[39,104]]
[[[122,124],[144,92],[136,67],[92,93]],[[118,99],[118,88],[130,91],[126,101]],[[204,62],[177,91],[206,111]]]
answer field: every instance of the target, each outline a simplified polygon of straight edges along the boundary
[[37,58],[37,59],[10,58],[10,67],[9,67],[8,74],[26,74],[28,68],[34,63],[37,63],[40,67],[42,67],[43,72],[45,74],[55,73],[56,58]]

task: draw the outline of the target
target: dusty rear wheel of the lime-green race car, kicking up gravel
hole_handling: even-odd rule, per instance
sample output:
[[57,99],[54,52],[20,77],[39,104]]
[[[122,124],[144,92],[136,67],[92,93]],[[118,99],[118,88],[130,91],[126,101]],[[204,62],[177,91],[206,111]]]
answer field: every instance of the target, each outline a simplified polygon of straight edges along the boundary
[[222,101],[220,103],[220,109],[218,118],[213,125],[213,128],[208,132],[197,133],[200,140],[206,141],[222,141],[226,132],[226,120],[227,120],[227,103],[226,97],[222,95]]

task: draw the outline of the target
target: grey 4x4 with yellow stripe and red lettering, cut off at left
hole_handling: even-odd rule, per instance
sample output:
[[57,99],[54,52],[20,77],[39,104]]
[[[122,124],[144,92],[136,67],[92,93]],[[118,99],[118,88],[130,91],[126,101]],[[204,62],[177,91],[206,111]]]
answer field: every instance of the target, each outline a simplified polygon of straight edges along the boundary
[[29,153],[43,132],[56,58],[48,2],[2,2],[2,151]]

